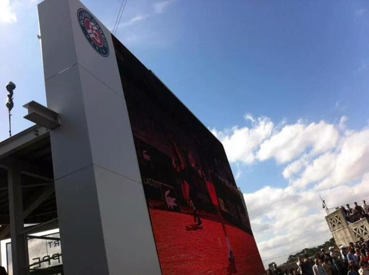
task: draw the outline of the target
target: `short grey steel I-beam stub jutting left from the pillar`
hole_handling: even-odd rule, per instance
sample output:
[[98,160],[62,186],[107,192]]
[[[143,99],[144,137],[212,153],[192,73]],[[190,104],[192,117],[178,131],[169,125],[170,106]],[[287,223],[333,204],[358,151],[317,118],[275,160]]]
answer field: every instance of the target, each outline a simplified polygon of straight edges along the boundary
[[32,100],[23,105],[23,107],[28,109],[28,115],[24,116],[24,118],[29,121],[44,126],[47,129],[55,129],[61,125],[60,115],[57,112],[46,108],[36,101]]

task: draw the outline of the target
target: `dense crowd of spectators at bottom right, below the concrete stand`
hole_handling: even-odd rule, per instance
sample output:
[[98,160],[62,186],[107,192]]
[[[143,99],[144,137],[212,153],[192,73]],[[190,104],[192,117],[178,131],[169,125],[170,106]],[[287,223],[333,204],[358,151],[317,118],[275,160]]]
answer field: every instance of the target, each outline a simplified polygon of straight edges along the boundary
[[301,255],[296,267],[282,271],[274,266],[267,275],[369,275],[369,241],[360,238],[349,246],[340,246],[339,251],[330,247],[321,249],[314,257]]

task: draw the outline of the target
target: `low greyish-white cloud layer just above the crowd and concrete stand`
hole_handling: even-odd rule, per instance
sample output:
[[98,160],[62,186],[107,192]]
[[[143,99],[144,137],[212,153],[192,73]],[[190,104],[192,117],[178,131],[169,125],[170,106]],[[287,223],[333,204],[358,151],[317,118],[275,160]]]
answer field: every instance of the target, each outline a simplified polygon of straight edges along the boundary
[[[368,198],[368,185],[369,173],[354,186],[342,185],[320,193],[313,189],[297,192],[291,188],[264,187],[252,194],[244,194],[262,258],[292,254],[330,239],[332,234],[324,219],[326,214],[321,209],[318,195],[321,194],[330,203],[328,206],[340,206]],[[286,258],[273,261],[282,263]]]

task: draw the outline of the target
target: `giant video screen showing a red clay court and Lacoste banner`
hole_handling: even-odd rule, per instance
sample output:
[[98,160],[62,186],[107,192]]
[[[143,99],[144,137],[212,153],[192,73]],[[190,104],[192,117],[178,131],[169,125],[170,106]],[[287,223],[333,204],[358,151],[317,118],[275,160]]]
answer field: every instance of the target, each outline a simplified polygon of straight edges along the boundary
[[263,274],[223,146],[113,42],[162,274]]

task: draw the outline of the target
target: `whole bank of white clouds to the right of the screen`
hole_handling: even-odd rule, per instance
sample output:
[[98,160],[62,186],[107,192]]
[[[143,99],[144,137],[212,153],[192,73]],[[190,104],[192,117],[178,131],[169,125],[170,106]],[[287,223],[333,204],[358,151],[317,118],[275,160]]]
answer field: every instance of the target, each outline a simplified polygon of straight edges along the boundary
[[244,118],[251,126],[213,130],[228,159],[238,168],[275,159],[283,164],[286,179],[284,188],[265,186],[244,194],[262,258],[292,254],[330,239],[319,195],[330,207],[369,198],[369,128],[348,129],[346,116],[337,124],[298,121],[277,126],[270,118]]

